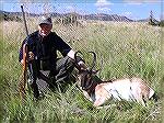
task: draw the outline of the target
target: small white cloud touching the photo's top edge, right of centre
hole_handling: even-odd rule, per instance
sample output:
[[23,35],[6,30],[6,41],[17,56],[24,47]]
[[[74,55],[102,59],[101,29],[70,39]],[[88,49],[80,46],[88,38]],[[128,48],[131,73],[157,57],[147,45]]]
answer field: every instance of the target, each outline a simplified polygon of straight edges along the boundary
[[113,3],[107,0],[97,0],[97,2],[95,3],[97,8],[107,8],[110,4]]

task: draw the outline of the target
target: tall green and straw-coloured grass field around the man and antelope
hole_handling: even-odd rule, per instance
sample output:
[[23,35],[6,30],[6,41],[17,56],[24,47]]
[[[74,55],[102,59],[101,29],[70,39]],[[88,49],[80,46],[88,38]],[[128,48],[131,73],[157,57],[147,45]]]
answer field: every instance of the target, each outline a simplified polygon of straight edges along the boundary
[[[30,32],[37,26],[27,21]],[[93,51],[97,54],[96,68],[103,80],[141,77],[162,98],[163,71],[161,62],[162,29],[147,23],[86,22],[83,26],[54,25],[74,51],[82,51],[90,66]],[[147,108],[133,102],[110,101],[112,107],[95,109],[79,88],[69,86],[66,92],[47,91],[46,98],[36,102],[31,93],[22,103],[17,85],[22,68],[17,62],[19,48],[25,38],[23,23],[1,22],[0,36],[1,72],[0,90],[2,122],[11,123],[161,123],[162,99],[149,101]],[[115,105],[114,105],[115,104]]]

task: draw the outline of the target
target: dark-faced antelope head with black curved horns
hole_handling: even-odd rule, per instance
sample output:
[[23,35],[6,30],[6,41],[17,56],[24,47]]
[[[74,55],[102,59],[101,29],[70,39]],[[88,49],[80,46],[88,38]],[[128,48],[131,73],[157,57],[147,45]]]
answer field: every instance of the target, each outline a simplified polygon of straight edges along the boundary
[[[77,60],[78,53],[82,54],[81,52],[77,52],[74,55],[75,60]],[[93,54],[92,66],[84,68],[83,66],[79,65],[79,82],[83,90],[89,90],[92,87],[94,82],[93,77],[97,72],[97,70],[93,70],[93,68],[96,65],[96,54],[94,52],[89,52],[89,53]]]

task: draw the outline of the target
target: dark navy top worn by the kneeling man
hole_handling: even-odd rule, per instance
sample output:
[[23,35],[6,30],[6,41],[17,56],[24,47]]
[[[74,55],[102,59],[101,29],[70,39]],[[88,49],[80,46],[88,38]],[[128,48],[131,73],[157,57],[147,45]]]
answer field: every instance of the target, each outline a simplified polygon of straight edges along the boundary
[[23,59],[23,44],[25,43],[27,43],[28,52],[34,53],[37,63],[40,64],[40,60],[45,63],[48,62],[50,64],[49,67],[55,67],[56,65],[57,51],[59,51],[63,57],[71,51],[71,47],[55,32],[50,32],[47,36],[42,37],[38,31],[36,31],[23,41],[20,49],[20,62]]

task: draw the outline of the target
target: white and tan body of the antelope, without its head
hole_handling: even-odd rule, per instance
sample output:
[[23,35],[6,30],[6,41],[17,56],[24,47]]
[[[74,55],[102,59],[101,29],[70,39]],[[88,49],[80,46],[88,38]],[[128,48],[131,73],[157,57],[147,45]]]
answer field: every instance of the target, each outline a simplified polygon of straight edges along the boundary
[[145,104],[145,101],[153,97],[154,90],[151,89],[140,78],[118,79],[114,81],[102,81],[89,90],[83,90],[84,96],[90,99],[95,107],[104,104],[107,100],[137,101]]

